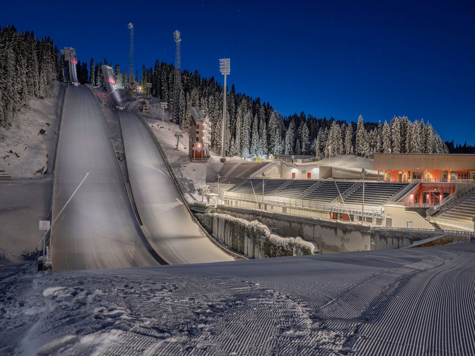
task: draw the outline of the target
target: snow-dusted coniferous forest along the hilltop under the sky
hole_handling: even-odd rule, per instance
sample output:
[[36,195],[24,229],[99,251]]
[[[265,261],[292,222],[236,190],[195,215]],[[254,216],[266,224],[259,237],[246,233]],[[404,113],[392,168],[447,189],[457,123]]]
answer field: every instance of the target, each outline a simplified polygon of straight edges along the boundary
[[[0,32],[0,127],[8,128],[12,117],[28,98],[43,98],[52,81],[64,80],[60,51],[49,37],[38,39],[33,31],[21,32],[5,26]],[[102,65],[112,66],[117,86],[124,87],[138,73],[128,73],[119,65],[78,60],[80,84],[104,85]],[[169,103],[173,93],[174,66],[155,62],[154,67],[142,66],[140,83],[152,83],[151,93]],[[221,147],[223,88],[214,77],[201,77],[198,71],[181,73],[180,126],[188,127],[190,107],[208,112],[211,121],[211,146]],[[371,158],[375,152],[392,153],[475,153],[475,146],[455,144],[440,138],[434,127],[423,119],[414,122],[407,116],[383,118],[383,122],[364,122],[361,115],[336,120],[317,118],[300,112],[282,115],[269,102],[261,102],[237,92],[234,84],[228,91],[226,141],[227,154],[241,157],[267,157],[269,154],[311,155],[317,158],[357,154]]]

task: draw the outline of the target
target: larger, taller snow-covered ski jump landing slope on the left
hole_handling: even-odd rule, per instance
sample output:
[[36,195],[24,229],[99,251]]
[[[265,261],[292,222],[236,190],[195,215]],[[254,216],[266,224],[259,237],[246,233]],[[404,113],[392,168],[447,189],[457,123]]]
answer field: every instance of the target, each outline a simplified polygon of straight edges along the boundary
[[[52,226],[54,270],[157,265],[133,215],[104,118],[90,90],[67,90],[57,150]],[[53,218],[55,216],[53,215]]]

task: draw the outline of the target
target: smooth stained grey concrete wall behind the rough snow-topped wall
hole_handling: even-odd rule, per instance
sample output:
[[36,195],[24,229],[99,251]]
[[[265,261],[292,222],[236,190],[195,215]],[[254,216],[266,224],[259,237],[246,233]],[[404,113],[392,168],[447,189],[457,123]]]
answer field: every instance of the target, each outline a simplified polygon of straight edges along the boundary
[[319,253],[371,250],[369,225],[351,224],[270,211],[218,205],[217,212],[247,221],[258,220],[283,236],[302,236],[318,245]]

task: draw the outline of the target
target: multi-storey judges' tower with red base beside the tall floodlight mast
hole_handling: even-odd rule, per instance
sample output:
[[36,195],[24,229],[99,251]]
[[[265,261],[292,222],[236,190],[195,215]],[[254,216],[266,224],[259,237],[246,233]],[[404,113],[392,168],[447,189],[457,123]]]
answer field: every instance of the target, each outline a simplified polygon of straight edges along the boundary
[[189,137],[188,152],[190,152],[190,158],[193,160],[208,160],[211,125],[208,114],[195,107],[191,107]]

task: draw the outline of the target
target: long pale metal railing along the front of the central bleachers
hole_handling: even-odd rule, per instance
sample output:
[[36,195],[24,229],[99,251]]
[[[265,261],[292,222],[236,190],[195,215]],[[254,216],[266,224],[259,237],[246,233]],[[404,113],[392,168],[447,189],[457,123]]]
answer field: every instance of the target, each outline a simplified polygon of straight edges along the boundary
[[358,216],[366,216],[373,218],[383,218],[384,212],[381,207],[365,206],[364,210],[361,210],[361,206],[347,205],[337,203],[318,202],[306,199],[295,199],[286,197],[264,196],[262,194],[247,194],[247,193],[235,193],[228,192],[227,199],[246,200],[249,202],[256,202],[257,204],[270,204],[281,205],[285,207],[294,207],[299,209],[318,210],[333,213],[342,213]]

